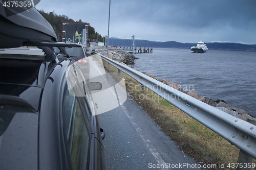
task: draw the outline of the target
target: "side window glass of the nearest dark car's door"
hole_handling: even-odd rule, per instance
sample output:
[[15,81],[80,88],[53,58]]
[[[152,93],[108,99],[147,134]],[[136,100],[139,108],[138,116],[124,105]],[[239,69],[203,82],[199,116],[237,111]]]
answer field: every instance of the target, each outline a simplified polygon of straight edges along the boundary
[[66,90],[63,100],[63,126],[67,135],[72,169],[87,169],[91,133],[82,113],[84,109],[80,107],[78,100],[79,98],[70,95],[68,89]]

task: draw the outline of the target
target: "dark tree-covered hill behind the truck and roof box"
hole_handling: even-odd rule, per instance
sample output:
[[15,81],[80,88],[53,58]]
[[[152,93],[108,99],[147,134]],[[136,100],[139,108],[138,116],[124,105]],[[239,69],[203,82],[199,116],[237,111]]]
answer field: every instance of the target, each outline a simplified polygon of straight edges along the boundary
[[[74,21],[73,19],[69,18],[66,15],[56,15],[54,12],[46,13],[44,10],[37,10],[53,27],[58,41],[62,41],[62,22],[69,21],[69,22],[82,22],[81,19],[79,21]],[[88,23],[88,42],[96,42],[98,37],[98,42],[103,42],[103,37],[100,34],[95,32],[95,29],[90,26]]]

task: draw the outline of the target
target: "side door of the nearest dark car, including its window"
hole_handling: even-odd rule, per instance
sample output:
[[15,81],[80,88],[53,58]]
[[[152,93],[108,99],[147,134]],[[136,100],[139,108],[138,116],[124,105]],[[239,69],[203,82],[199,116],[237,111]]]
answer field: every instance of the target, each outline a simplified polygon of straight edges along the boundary
[[101,132],[93,115],[95,107],[90,88],[76,64],[67,70],[66,77],[71,77],[67,77],[63,88],[61,121],[68,166],[72,169],[105,169],[103,145],[99,140]]

